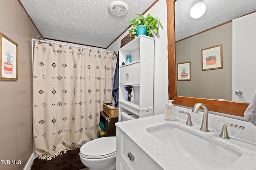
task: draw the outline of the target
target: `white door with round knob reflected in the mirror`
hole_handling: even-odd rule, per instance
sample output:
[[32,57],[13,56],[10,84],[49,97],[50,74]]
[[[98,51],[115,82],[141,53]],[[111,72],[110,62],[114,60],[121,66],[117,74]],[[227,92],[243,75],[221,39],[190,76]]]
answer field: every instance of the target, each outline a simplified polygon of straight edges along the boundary
[[[256,12],[233,20],[232,101],[251,102],[256,93]],[[253,69],[253,70],[252,70]]]

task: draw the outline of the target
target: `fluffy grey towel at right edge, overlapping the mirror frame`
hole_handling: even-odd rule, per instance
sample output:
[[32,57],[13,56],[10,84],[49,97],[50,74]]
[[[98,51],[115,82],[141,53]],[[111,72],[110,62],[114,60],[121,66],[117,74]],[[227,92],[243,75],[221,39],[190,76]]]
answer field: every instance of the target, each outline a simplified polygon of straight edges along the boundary
[[256,126],[256,94],[254,94],[252,101],[244,112],[244,117]]

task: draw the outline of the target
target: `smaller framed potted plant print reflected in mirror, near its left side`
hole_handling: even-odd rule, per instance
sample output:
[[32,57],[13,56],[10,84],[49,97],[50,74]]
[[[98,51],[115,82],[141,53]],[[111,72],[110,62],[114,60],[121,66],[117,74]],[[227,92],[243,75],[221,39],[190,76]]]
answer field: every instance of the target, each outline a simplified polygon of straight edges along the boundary
[[191,62],[177,64],[178,81],[191,80]]

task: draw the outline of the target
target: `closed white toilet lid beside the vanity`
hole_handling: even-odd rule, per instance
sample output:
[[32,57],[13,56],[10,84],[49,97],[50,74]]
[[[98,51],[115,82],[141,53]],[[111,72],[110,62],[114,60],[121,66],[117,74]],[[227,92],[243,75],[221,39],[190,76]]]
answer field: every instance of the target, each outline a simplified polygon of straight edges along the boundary
[[85,143],[80,148],[84,158],[106,158],[116,154],[116,137],[101,137]]

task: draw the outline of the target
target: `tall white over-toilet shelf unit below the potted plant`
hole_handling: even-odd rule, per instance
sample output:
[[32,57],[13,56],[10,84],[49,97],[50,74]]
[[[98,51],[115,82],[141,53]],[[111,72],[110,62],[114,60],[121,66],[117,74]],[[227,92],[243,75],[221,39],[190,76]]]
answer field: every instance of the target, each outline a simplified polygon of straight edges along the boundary
[[[126,55],[132,63],[126,63]],[[125,100],[125,86],[132,86],[135,102]],[[121,112],[138,117],[153,115],[154,90],[154,38],[140,35],[119,49],[119,120]]]

